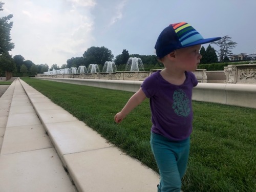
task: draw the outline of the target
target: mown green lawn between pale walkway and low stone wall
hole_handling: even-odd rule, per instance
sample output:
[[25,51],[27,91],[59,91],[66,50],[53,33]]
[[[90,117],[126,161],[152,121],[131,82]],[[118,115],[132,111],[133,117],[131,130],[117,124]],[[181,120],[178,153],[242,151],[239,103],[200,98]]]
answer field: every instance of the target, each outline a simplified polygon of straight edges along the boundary
[[[158,171],[150,148],[149,100],[123,122],[114,116],[132,92],[22,78],[143,164]],[[256,109],[193,101],[194,131],[184,191],[256,191]]]

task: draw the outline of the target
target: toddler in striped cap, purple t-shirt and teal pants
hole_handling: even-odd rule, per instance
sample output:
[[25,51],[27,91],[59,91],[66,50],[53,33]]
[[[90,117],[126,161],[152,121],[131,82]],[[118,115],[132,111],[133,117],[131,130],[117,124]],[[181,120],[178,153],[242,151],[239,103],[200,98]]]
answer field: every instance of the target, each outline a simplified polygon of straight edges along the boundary
[[184,22],[166,27],[155,45],[164,69],[147,77],[115,115],[115,121],[119,123],[146,97],[150,98],[153,123],[150,143],[160,174],[158,192],[181,190],[192,132],[192,89],[198,84],[192,72],[202,58],[201,45],[219,39],[221,37],[204,39]]

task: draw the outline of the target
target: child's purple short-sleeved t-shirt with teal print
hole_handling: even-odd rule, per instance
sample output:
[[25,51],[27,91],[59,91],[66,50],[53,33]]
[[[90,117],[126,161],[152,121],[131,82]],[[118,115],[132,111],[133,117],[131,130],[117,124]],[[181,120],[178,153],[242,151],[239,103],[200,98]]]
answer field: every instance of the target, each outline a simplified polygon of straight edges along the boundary
[[192,72],[185,72],[186,80],[180,86],[167,82],[157,71],[141,84],[146,97],[150,98],[153,133],[170,140],[180,141],[192,132],[192,89],[197,79]]

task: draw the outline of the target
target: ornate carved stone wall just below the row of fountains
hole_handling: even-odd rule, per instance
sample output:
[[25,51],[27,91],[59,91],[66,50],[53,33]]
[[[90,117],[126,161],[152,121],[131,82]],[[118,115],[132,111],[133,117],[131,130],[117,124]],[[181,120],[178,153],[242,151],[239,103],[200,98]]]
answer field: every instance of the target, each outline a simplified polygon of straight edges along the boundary
[[[151,72],[120,71],[116,73],[86,73],[57,75],[37,74],[37,77],[143,81],[146,77],[150,76],[152,73],[158,70],[162,69],[151,70]],[[228,65],[227,67],[224,67],[224,71],[206,71],[205,69],[197,69],[193,73],[195,74],[198,82],[256,84],[256,64]]]

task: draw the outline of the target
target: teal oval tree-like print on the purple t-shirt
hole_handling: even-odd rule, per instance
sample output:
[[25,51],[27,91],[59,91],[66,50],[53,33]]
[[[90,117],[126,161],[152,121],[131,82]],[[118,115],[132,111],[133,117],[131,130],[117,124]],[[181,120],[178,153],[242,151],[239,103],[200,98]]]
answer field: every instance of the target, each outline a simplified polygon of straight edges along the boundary
[[186,122],[186,117],[190,113],[190,106],[189,106],[189,99],[186,95],[186,93],[178,89],[174,92],[173,95],[173,110],[178,116],[185,117],[185,122]]

